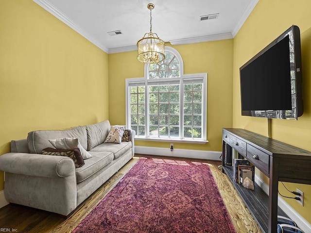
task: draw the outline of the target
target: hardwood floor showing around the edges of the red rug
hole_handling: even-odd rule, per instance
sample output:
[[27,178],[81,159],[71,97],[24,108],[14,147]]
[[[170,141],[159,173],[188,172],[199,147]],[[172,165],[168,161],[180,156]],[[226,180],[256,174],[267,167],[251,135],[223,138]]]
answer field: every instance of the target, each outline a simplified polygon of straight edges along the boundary
[[0,231],[9,229],[18,233],[71,233],[87,214],[104,198],[116,183],[131,169],[139,157],[153,157],[174,160],[191,160],[209,164],[219,191],[224,199],[228,213],[237,233],[260,233],[254,218],[245,207],[227,176],[218,169],[221,161],[198,160],[137,154],[123,166],[114,176],[87,198],[69,218],[54,213],[37,210],[16,204],[8,204],[0,209]]

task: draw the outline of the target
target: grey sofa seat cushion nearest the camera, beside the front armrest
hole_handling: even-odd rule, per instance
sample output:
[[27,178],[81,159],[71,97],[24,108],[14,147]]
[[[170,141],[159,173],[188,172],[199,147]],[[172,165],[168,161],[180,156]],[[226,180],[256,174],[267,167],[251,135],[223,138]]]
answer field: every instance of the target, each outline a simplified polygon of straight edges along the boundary
[[84,166],[76,168],[77,183],[83,182],[113,160],[113,153],[109,151],[89,151],[89,153],[93,157],[86,159]]

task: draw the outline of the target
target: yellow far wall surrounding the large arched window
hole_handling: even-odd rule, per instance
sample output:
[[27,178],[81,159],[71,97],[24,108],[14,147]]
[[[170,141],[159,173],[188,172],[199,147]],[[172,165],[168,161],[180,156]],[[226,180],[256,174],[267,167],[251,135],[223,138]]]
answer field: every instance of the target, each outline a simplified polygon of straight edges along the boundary
[[[171,46],[168,44],[168,46]],[[176,149],[221,150],[222,128],[232,126],[233,40],[171,46],[184,61],[184,73],[207,73],[206,144],[174,143]],[[144,77],[137,51],[109,54],[109,120],[125,124],[125,79]],[[169,142],[135,141],[137,146],[169,148]]]

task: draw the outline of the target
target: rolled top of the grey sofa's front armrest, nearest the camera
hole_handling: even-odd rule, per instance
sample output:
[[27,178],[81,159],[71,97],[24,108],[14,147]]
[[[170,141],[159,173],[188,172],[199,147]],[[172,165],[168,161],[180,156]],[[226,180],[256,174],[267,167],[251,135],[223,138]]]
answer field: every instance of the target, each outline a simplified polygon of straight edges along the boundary
[[68,177],[75,174],[71,158],[44,154],[11,152],[0,156],[0,170],[38,177]]

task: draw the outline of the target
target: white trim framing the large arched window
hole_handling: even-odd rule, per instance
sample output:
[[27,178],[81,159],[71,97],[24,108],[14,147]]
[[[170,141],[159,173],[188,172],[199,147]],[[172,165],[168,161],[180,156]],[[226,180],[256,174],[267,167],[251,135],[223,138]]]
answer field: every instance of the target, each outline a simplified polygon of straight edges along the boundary
[[[202,127],[202,139],[193,139],[193,138],[164,138],[164,137],[149,137],[148,136],[148,132],[149,132],[149,116],[148,116],[148,112],[149,112],[149,106],[148,106],[148,100],[147,97],[149,96],[149,88],[148,88],[148,84],[151,83],[156,83],[158,82],[158,80],[150,80],[148,79],[149,77],[149,64],[145,64],[145,77],[144,78],[132,78],[132,79],[126,79],[125,80],[125,104],[126,104],[126,110],[125,110],[125,114],[126,114],[126,127],[129,129],[130,127],[130,117],[129,117],[129,113],[130,113],[130,98],[129,98],[129,86],[131,86],[131,83],[135,83],[135,84],[139,84],[141,83],[141,85],[145,85],[145,134],[147,136],[135,136],[135,140],[143,140],[143,141],[157,141],[157,142],[179,142],[179,143],[198,143],[198,144],[204,144],[207,143],[207,73],[200,73],[200,74],[188,74],[188,75],[184,75],[184,64],[183,64],[183,60],[182,57],[180,56],[180,54],[178,53],[177,50],[173,49],[172,47],[165,47],[165,50],[172,52],[176,58],[179,60],[180,63],[180,78],[170,78],[168,80],[165,80],[167,82],[170,81],[179,81],[180,80],[180,92],[183,92],[183,84],[184,81],[190,78],[197,78],[197,79],[203,79],[203,89],[202,89],[202,105],[203,105],[203,109],[202,109],[202,113],[203,113],[203,117],[202,117],[202,121],[204,122],[204,127]],[[164,80],[161,80],[164,81]],[[183,107],[183,100],[180,100],[180,114],[181,114],[181,126],[183,126],[183,111],[181,110]],[[137,133],[138,134],[138,133]],[[183,137],[183,132],[181,133],[181,137]]]

